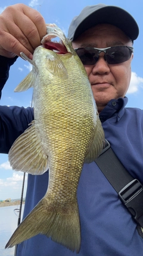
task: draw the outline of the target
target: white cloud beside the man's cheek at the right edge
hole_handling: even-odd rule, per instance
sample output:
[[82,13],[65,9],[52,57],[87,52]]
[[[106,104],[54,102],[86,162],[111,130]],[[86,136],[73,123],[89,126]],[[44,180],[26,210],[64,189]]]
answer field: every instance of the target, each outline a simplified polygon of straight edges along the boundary
[[143,85],[143,78],[139,77],[135,72],[132,72],[130,85],[128,89],[128,94],[133,94],[134,92],[137,92],[139,89],[139,86]]

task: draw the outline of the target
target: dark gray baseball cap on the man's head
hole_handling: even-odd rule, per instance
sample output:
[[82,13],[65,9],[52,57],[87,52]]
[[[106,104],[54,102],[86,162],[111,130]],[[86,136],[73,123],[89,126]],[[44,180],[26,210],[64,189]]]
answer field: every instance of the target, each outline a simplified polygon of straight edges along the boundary
[[138,37],[139,28],[135,19],[120,7],[97,4],[83,8],[79,16],[70,23],[68,38],[74,40],[92,26],[108,23],[122,29],[133,41]]

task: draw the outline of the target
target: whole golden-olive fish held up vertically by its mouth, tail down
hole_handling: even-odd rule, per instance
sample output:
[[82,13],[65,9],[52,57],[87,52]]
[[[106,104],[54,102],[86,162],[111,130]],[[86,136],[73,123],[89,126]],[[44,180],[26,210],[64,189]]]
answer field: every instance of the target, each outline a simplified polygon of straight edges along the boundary
[[[9,159],[14,170],[30,174],[42,174],[49,167],[48,189],[5,247],[41,233],[78,253],[77,186],[83,163],[100,154],[104,132],[88,76],[71,42],[55,25],[47,27],[47,34],[32,61],[21,54],[33,70],[15,91],[33,87],[35,119],[15,140]],[[54,43],[62,54],[47,49],[55,36],[63,41],[60,46]]]

